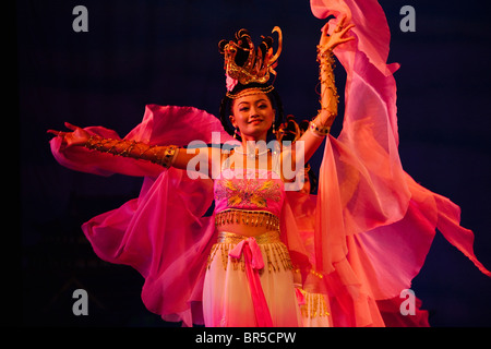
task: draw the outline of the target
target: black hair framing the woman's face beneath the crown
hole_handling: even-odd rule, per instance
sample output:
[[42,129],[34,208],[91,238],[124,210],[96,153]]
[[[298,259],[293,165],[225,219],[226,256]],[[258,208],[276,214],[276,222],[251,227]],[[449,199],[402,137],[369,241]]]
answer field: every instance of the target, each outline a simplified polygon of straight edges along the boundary
[[[266,88],[268,86],[270,85],[267,85],[267,84],[260,84],[260,83],[251,83],[251,84],[247,84],[247,85],[237,84],[230,93],[235,95],[246,88]],[[278,131],[280,124],[284,121],[284,110],[283,110],[282,98],[279,97],[279,94],[276,91],[276,88],[273,88],[271,92],[266,93],[265,95],[267,96],[267,98],[270,98],[273,109],[276,110],[274,127],[275,127],[275,130]],[[235,129],[229,119],[229,117],[232,115],[232,105],[233,105],[233,99],[226,95],[221,99],[220,108],[219,108],[219,116],[220,116],[221,124],[224,125],[225,131],[227,131],[228,134],[230,134],[230,135],[233,135],[233,132],[235,132]],[[270,129],[268,137],[272,135],[273,135],[273,131],[272,131],[272,129]]]

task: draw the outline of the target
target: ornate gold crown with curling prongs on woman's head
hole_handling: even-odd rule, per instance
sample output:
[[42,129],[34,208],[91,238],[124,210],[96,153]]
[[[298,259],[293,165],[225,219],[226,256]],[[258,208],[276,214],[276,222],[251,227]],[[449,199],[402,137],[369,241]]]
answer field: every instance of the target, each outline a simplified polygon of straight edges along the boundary
[[277,60],[282,53],[283,35],[278,26],[272,33],[278,33],[278,49],[273,53],[273,38],[261,36],[262,41],[254,48],[251,36],[247,29],[236,33],[235,40],[221,40],[218,43],[220,53],[225,57],[225,72],[227,75],[228,93],[240,83],[248,85],[251,83],[265,84],[270,81],[270,74],[276,76],[274,70],[278,64]]

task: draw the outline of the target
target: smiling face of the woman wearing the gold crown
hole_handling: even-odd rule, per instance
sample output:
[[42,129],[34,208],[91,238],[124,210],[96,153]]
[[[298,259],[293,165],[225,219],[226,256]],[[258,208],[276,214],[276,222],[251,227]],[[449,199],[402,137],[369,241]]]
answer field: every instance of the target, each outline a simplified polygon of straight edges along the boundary
[[265,141],[274,117],[270,98],[265,94],[256,94],[233,100],[230,121],[240,130],[243,141]]

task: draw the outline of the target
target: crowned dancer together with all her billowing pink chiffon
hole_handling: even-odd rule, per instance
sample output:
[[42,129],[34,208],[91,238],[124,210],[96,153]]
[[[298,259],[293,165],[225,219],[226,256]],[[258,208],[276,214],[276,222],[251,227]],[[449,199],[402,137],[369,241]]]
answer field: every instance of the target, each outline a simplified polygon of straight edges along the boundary
[[[195,108],[151,105],[122,140],[101,127],[50,131],[63,166],[145,178],[137,198],[82,228],[97,255],[144,276],[143,302],[164,320],[301,325],[298,284],[326,302],[328,321],[310,325],[427,326],[419,302],[410,316],[400,313],[399,294],[410,288],[436,228],[490,275],[472,252],[472,232],[459,226],[458,206],[417,184],[402,167],[397,67],[386,64],[382,9],[374,0],[311,4],[316,16],[335,20],[319,45],[321,109],[296,142],[304,152],[261,145],[283,121],[270,82],[280,52],[278,29],[276,53],[271,38],[255,49],[244,31],[220,44],[227,73],[220,120]],[[326,137],[337,113],[333,55],[347,72],[337,139]],[[307,161],[323,140],[318,195],[304,205],[306,194],[286,190],[290,174],[303,167],[289,164]],[[201,143],[188,146],[192,141]],[[202,176],[191,174],[196,172]],[[297,296],[302,302],[301,291]]]

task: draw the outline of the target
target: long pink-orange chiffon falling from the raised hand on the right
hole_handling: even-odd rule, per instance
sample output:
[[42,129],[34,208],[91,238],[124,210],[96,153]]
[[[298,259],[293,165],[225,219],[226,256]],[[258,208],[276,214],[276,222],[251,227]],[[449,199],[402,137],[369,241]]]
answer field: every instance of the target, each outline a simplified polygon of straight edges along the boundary
[[[354,23],[355,40],[334,52],[347,72],[343,131],[330,137],[320,172],[315,267],[324,275],[335,326],[428,325],[418,310],[388,306],[410,288],[435,229],[486,275],[459,208],[417,184],[398,155],[397,64],[386,64],[390,31],[376,0],[311,0],[314,15]],[[384,310],[379,309],[383,304]]]

